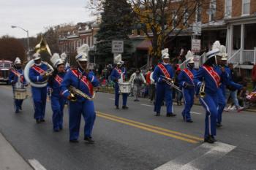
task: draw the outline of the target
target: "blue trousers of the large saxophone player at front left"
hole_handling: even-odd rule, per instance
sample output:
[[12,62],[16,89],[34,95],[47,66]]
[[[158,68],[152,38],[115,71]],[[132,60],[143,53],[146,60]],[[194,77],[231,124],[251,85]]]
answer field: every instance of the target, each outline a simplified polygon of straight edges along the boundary
[[91,137],[96,118],[94,101],[86,100],[82,103],[69,101],[69,140],[77,140],[79,137],[81,115],[86,122],[84,136]]

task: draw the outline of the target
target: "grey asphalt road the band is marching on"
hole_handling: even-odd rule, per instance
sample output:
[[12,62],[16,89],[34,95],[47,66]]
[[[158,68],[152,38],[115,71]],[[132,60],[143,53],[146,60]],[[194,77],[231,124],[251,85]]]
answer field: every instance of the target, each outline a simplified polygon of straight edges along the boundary
[[50,103],[45,123],[33,119],[31,98],[23,102],[23,111],[15,114],[10,86],[0,85],[0,132],[26,160],[35,159],[45,169],[121,170],[121,169],[256,169],[256,113],[225,112],[223,127],[217,130],[218,142],[202,142],[204,110],[192,108],[194,123],[184,123],[181,107],[177,117],[154,117],[146,100],[129,98],[128,110],[115,109],[113,94],[97,93],[94,100],[97,120],[95,144],[69,143],[67,107],[64,130],[52,130]]

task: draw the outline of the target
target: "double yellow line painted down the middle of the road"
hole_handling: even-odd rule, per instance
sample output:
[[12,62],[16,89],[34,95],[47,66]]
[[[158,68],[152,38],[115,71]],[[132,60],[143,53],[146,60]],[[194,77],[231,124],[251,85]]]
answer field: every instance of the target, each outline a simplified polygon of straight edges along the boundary
[[118,117],[118,116],[114,116],[114,115],[110,115],[110,114],[106,114],[103,112],[97,112],[97,116],[98,117],[103,117],[105,119],[108,120],[112,120],[114,122],[118,122],[118,123],[123,123],[125,125],[130,125],[133,126],[135,128],[140,128],[143,129],[145,131],[150,131],[154,134],[160,134],[160,135],[164,135],[164,136],[168,136],[174,139],[178,139],[184,142],[189,142],[192,144],[197,144],[198,142],[202,142],[203,139],[199,138],[197,136],[192,136],[192,135],[188,135],[188,134],[183,134],[181,132],[178,131],[171,131],[169,129],[165,129],[165,128],[160,128],[154,125],[148,125],[146,123],[140,123],[138,121],[135,120],[129,120],[123,117]]

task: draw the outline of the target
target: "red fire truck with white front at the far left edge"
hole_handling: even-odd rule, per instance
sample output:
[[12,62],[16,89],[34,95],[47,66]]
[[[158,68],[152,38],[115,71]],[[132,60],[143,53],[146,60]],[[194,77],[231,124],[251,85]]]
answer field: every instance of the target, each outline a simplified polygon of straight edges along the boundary
[[9,77],[9,70],[12,68],[12,61],[4,61],[0,60],[0,82],[5,82],[7,85],[8,77]]

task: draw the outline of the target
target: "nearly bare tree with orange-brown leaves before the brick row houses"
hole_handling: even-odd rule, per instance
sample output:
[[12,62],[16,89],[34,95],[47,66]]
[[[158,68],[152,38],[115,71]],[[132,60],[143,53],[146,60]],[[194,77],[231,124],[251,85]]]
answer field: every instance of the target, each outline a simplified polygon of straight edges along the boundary
[[151,56],[160,56],[167,42],[195,21],[195,12],[204,0],[129,0],[136,22],[151,40]]

